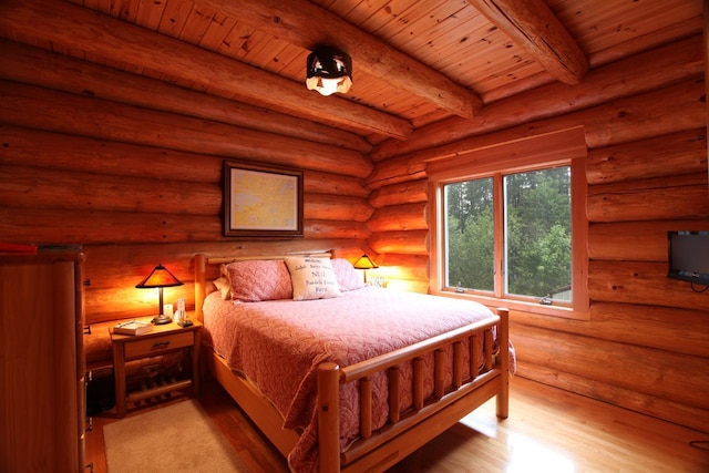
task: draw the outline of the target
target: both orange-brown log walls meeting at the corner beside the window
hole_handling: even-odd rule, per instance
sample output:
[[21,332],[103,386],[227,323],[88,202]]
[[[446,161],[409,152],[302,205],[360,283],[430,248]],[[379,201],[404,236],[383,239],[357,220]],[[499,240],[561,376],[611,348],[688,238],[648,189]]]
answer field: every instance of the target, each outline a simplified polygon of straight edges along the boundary
[[[185,282],[166,300],[194,304],[196,251],[370,253],[392,287],[425,291],[427,160],[580,125],[589,320],[513,311],[518,376],[709,432],[709,292],[665,277],[666,232],[709,229],[703,73],[701,38],[688,38],[371,151],[323,125],[2,41],[0,235],[84,245],[90,322],[152,312],[156,296],[134,286],[157,263]],[[302,239],[222,236],[225,158],[305,169]]]

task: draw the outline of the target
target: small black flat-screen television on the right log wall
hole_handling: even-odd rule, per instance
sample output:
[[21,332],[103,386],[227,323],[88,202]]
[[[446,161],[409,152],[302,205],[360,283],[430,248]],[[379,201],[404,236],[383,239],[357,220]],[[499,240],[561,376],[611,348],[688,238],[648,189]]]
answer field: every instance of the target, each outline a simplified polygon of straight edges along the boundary
[[709,230],[668,232],[667,277],[709,286]]

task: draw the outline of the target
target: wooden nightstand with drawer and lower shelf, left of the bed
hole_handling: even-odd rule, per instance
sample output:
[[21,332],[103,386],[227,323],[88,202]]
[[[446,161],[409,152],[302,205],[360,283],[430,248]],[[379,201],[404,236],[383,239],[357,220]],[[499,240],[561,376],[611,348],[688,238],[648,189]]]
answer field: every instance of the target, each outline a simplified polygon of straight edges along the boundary
[[[151,318],[145,320],[150,321]],[[124,417],[127,404],[144,399],[171,393],[173,391],[191,391],[193,397],[199,393],[199,336],[202,323],[191,319],[192,327],[183,328],[175,322],[154,326],[153,330],[143,335],[114,333],[111,329],[113,347],[113,371],[115,376],[115,410]],[[188,378],[174,380],[164,384],[148,387],[140,391],[126,392],[126,361],[138,360],[161,354],[186,350],[191,366]]]

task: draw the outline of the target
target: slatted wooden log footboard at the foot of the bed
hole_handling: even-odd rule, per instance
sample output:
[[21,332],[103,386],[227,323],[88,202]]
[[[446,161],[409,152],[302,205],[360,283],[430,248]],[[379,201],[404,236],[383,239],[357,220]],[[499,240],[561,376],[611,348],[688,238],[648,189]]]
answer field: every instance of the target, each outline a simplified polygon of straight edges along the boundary
[[[382,471],[415,451],[430,440],[455,424],[494,395],[497,417],[508,413],[508,329],[507,310],[499,309],[497,316],[477,323],[443,333],[420,343],[339,368],[322,363],[318,369],[318,450],[320,472]],[[497,326],[497,356],[493,353],[492,329]],[[463,380],[463,340],[483,337],[483,370]],[[444,392],[443,367],[445,348],[453,348],[453,387]],[[434,393],[423,399],[423,373],[418,368],[427,354],[434,356]],[[470,372],[477,372],[477,359],[471,350]],[[412,362],[413,409],[399,414],[398,366]],[[387,372],[390,382],[389,421],[378,432],[371,431],[372,392],[371,377]],[[339,389],[342,384],[360,381],[360,439],[346,452],[339,443]]]

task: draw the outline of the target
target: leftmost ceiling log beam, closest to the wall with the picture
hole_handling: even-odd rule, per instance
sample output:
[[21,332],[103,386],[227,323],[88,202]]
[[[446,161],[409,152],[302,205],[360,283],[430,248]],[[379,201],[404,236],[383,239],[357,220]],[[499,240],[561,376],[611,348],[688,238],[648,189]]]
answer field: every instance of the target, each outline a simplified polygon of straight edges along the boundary
[[104,56],[138,70],[160,70],[237,100],[254,100],[281,113],[362,134],[405,140],[413,130],[407,120],[346,99],[326,100],[301,83],[65,1],[0,2],[0,38],[35,38],[60,49],[84,51],[88,59]]

